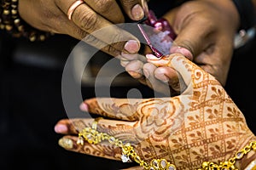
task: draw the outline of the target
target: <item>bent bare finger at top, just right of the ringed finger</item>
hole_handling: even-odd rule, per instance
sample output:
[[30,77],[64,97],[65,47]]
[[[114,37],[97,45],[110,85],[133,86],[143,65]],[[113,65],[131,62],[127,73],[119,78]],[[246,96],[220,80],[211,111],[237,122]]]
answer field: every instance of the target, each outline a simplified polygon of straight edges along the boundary
[[122,14],[119,4],[114,0],[84,0],[90,8],[93,8],[97,14],[102,15],[107,20],[117,24],[125,22],[125,17]]

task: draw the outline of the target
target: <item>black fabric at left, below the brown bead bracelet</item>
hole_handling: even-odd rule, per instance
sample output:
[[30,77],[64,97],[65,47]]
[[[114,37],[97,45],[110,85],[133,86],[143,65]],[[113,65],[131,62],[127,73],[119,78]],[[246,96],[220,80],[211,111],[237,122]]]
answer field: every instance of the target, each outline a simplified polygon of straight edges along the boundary
[[[54,126],[67,118],[61,99],[62,70],[78,41],[55,36],[46,42],[27,42],[0,35],[0,169],[117,170],[130,167],[132,164],[74,153],[58,145],[62,135],[54,132]],[[55,56],[61,64],[45,67],[19,63],[13,58],[17,50],[31,54],[34,49],[40,56]],[[101,52],[97,55],[109,58]],[[130,88],[140,89],[145,98],[152,95],[144,86],[115,87],[111,93],[113,97],[125,97]],[[102,87],[104,89],[108,87]],[[93,87],[84,86],[81,91],[84,99],[95,97]]]

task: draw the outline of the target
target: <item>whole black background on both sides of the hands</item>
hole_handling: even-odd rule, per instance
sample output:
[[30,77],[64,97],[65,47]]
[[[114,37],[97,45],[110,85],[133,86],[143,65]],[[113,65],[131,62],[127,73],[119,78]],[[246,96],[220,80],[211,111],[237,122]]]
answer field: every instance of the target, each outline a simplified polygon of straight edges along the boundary
[[[165,4],[165,3],[161,3]],[[161,5],[158,4],[158,5]],[[165,5],[157,14],[166,11]],[[157,11],[156,9],[160,9]],[[0,34],[0,169],[119,169],[128,167],[117,161],[86,156],[62,149],[55,123],[67,115],[61,99],[61,75],[68,54],[78,41],[56,35],[45,42],[28,42]],[[256,40],[236,49],[230,74],[224,87],[246,116],[256,133],[254,88]],[[104,56],[101,52],[97,55]],[[27,56],[30,57],[27,58]],[[106,56],[108,58],[109,56]],[[104,88],[104,87],[102,87]],[[152,91],[143,86],[115,87],[113,97],[125,97],[130,88],[138,88],[144,97]],[[108,88],[106,88],[108,89]],[[85,98],[95,96],[93,87],[82,88]]]

